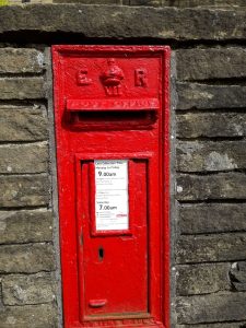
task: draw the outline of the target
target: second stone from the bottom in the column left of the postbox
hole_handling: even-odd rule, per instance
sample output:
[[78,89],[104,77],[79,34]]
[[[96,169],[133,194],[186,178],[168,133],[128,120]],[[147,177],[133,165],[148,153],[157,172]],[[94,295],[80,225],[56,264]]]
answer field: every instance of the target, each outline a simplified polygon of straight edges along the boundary
[[51,303],[55,281],[50,273],[9,274],[2,278],[4,305]]

